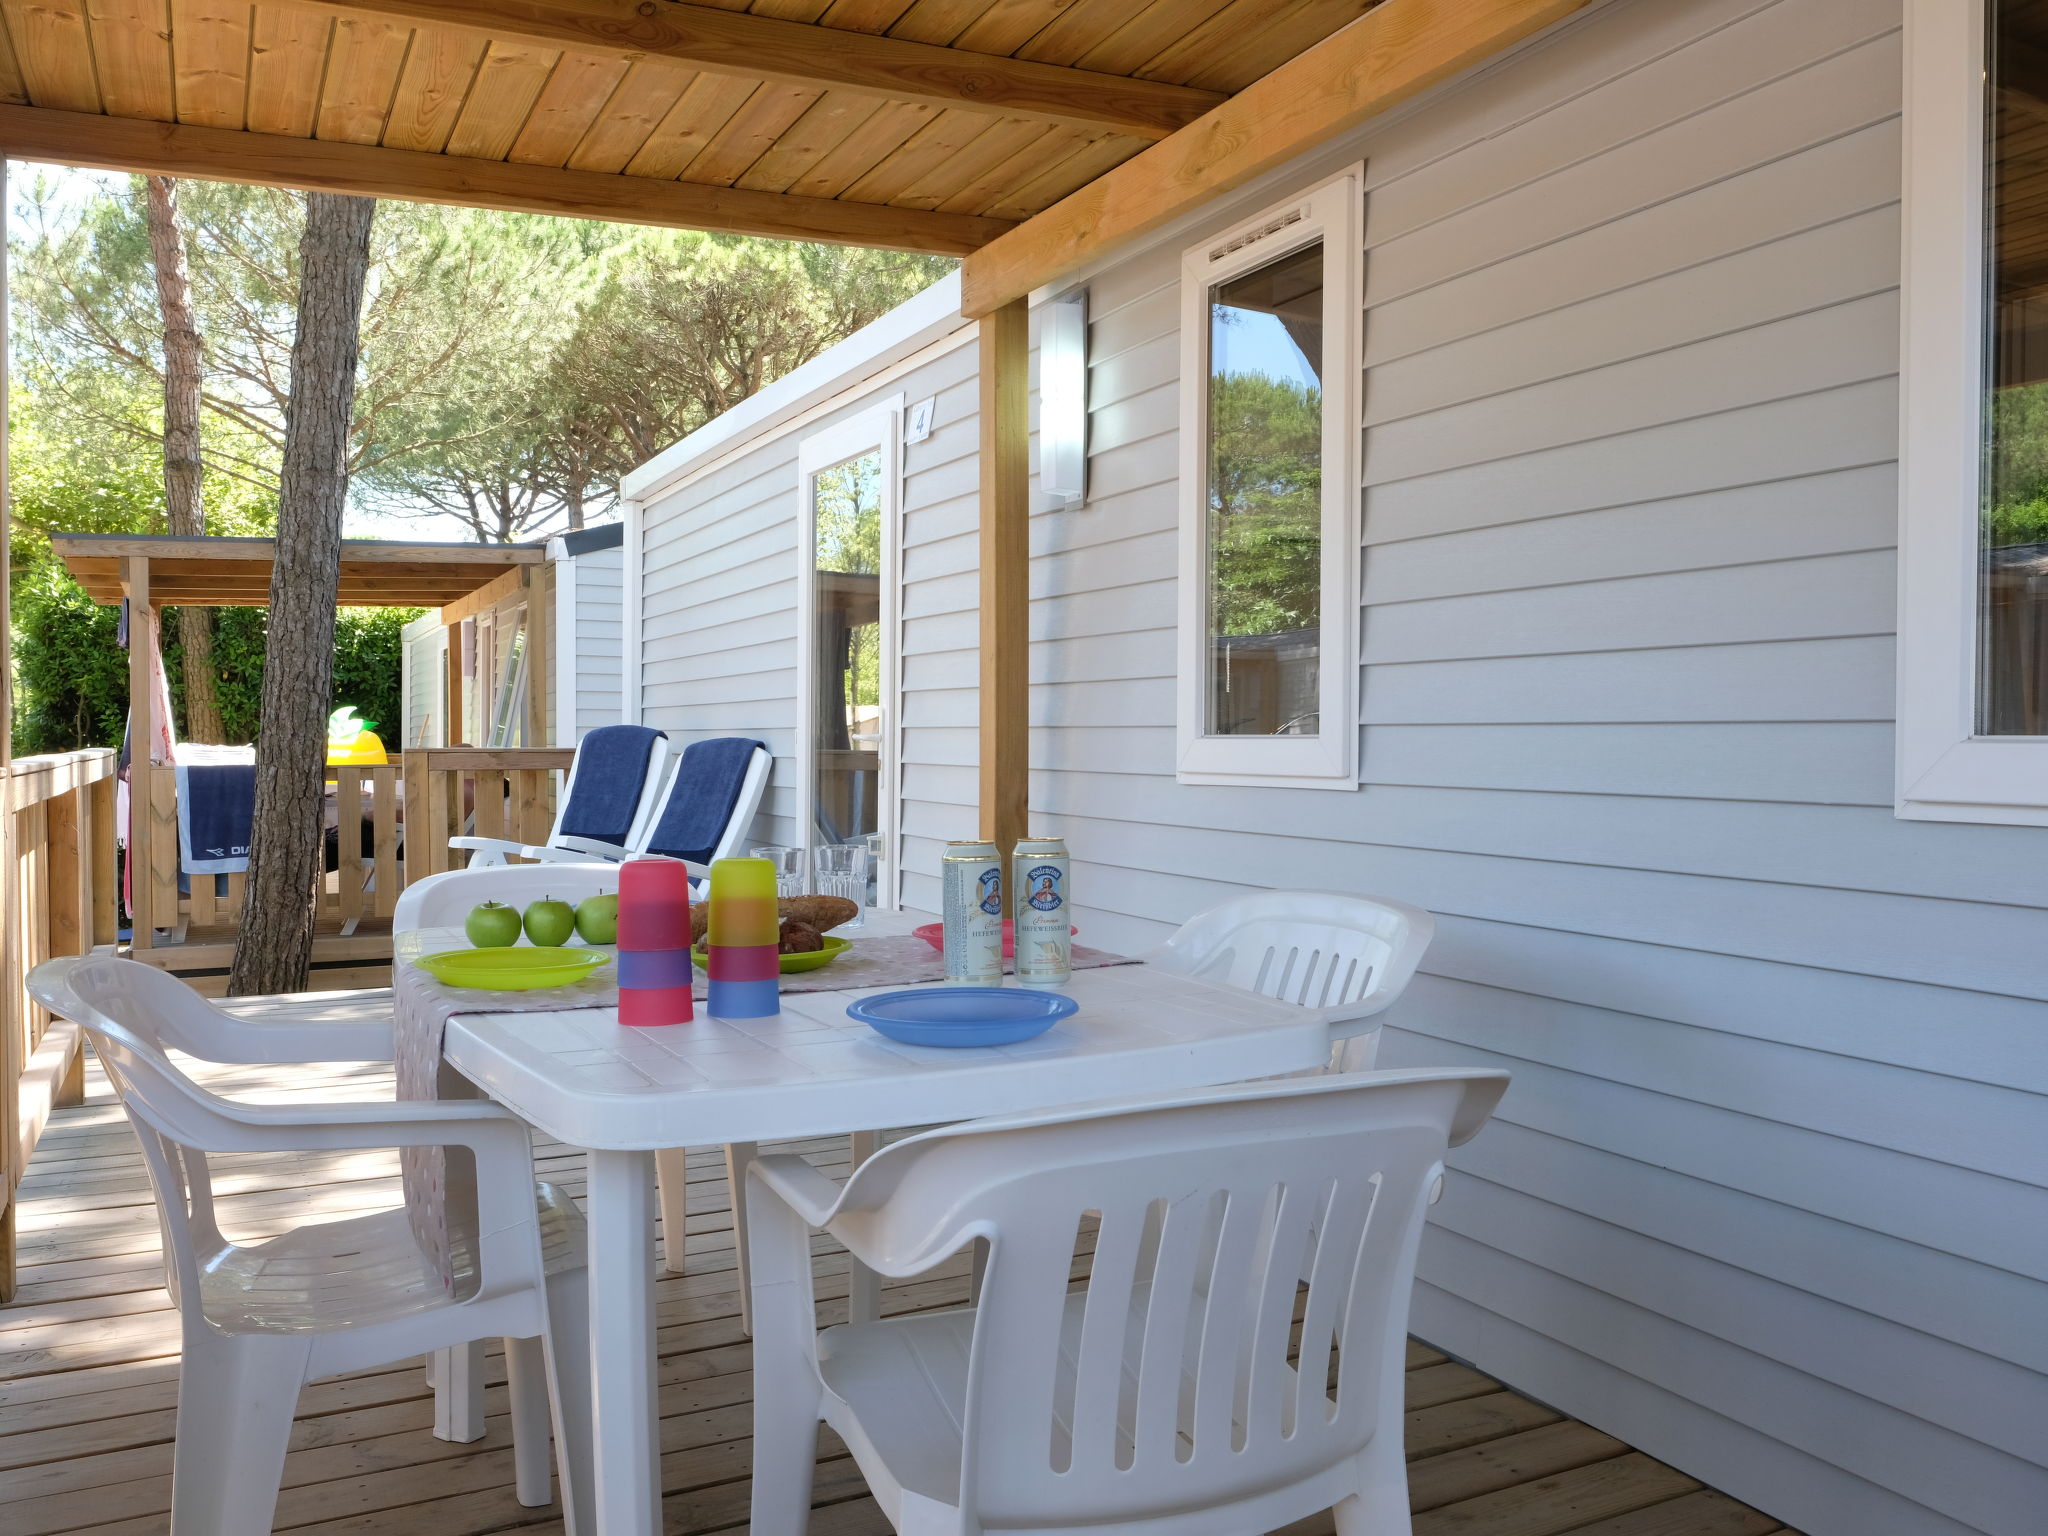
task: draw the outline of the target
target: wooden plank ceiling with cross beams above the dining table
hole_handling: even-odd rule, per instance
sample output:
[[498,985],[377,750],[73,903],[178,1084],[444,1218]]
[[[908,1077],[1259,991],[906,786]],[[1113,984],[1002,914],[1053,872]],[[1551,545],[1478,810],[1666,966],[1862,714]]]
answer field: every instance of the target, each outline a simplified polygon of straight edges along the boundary
[[1378,0],[0,0],[0,150],[967,254]]

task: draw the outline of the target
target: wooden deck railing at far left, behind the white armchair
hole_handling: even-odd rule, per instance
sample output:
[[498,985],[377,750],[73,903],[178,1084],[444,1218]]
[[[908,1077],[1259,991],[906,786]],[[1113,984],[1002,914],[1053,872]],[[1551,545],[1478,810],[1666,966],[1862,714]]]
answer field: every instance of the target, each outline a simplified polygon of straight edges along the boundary
[[115,754],[0,768],[0,1300],[14,1294],[14,1186],[49,1110],[82,1087],[78,1026],[29,1001],[37,965],[115,940]]

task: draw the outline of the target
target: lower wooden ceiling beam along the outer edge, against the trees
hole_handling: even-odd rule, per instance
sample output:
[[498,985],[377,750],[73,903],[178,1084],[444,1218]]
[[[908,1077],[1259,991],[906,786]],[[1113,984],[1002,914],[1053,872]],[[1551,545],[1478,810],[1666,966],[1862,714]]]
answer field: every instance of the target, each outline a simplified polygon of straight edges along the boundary
[[[651,0],[649,0],[651,4]],[[135,117],[0,106],[0,154],[86,170],[193,176],[254,186],[391,197],[563,219],[651,223],[836,246],[965,256],[1016,225],[825,197],[750,193],[553,166],[291,139],[274,133],[152,123]]]

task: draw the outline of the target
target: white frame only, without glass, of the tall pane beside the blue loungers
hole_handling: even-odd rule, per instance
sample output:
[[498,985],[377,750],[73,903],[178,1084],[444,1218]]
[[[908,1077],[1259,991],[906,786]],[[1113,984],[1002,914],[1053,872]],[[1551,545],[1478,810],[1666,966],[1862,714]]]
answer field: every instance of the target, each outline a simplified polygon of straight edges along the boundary
[[901,907],[903,860],[901,797],[903,696],[901,696],[901,604],[897,582],[903,561],[903,395],[868,406],[858,416],[813,432],[797,444],[797,842],[817,848],[817,713],[811,692],[817,672],[817,516],[811,479],[866,453],[881,453],[881,682],[883,741],[874,795],[877,825],[883,834],[883,868],[874,874],[874,899],[885,911]]

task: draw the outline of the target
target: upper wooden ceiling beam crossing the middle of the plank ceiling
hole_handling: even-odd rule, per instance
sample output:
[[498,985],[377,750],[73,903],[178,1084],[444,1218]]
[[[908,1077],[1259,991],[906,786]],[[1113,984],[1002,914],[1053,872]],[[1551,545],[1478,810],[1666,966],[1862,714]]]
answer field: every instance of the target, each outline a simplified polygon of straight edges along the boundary
[[967,53],[899,37],[754,16],[676,0],[301,0],[324,12],[461,27],[582,53],[657,55],[692,70],[862,90],[1061,127],[1163,139],[1217,102],[1214,90]]

